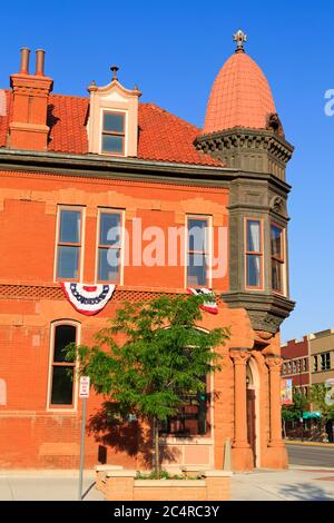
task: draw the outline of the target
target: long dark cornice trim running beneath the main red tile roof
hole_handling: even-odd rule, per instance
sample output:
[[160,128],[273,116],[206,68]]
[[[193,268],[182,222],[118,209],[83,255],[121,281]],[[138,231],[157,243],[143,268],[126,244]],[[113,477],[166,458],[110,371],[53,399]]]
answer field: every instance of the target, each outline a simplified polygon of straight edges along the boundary
[[266,180],[289,193],[291,186],[269,174],[246,172],[227,167],[110,158],[99,155],[63,155],[47,151],[22,151],[0,148],[0,170],[50,172],[59,176],[106,178],[165,184],[226,187],[237,178]]

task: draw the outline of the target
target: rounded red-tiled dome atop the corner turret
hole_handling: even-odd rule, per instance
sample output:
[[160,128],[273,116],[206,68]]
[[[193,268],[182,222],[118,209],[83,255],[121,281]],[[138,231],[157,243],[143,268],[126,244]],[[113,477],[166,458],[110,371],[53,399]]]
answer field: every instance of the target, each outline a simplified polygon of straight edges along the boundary
[[233,55],[218,73],[207,105],[205,135],[235,127],[265,129],[276,112],[268,81],[246,53]]

